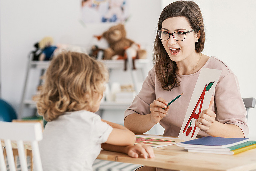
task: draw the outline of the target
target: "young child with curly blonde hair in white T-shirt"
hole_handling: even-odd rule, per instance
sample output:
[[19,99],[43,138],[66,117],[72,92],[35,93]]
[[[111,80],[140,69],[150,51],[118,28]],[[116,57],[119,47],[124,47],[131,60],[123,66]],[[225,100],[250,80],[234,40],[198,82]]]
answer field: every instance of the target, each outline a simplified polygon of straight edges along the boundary
[[92,170],[101,147],[154,157],[151,147],[133,145],[133,132],[93,113],[108,77],[103,63],[86,54],[62,52],[50,62],[37,102],[38,113],[48,121],[39,143],[43,170]]

